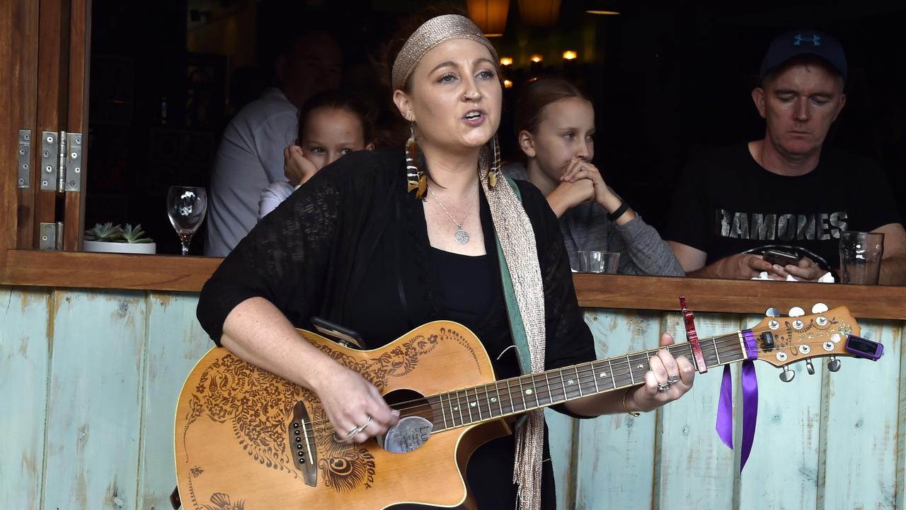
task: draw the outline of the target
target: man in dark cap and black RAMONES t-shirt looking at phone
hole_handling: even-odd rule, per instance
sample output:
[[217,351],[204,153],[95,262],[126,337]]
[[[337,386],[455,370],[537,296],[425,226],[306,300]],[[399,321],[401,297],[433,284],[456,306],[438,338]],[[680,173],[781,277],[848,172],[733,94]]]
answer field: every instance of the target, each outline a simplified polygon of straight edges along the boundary
[[[903,230],[883,172],[870,160],[823,148],[843,110],[846,58],[829,35],[777,37],[752,92],[762,140],[692,162],[673,200],[670,248],[687,276],[817,280],[839,266],[840,232],[884,233],[882,284],[906,285]],[[762,259],[794,251],[797,263]]]

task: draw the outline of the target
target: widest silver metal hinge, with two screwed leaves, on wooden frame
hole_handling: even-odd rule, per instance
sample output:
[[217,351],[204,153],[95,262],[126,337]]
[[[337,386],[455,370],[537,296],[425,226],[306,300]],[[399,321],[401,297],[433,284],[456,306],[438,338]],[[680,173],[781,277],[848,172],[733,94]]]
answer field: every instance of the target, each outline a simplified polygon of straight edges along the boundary
[[82,191],[82,133],[41,133],[41,190]]

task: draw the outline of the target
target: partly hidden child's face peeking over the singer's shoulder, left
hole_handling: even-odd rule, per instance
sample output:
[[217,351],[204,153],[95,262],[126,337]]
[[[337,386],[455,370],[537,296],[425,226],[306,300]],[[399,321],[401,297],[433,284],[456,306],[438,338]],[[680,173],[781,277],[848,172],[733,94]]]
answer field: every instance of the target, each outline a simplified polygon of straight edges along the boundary
[[366,148],[359,118],[334,108],[316,108],[309,113],[300,142],[305,159],[318,170]]

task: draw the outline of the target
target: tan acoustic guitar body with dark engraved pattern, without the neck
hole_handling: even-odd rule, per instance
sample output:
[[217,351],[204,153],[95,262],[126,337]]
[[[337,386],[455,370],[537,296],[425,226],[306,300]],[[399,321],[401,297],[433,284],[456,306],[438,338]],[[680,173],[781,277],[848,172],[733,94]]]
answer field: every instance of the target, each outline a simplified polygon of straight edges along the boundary
[[[299,332],[370,380],[391,403],[394,395],[410,401],[495,380],[481,342],[454,322],[425,324],[373,350]],[[440,417],[439,409],[421,403],[428,420]],[[509,433],[496,419],[431,434],[406,453],[390,453],[373,438],[345,444],[336,440],[311,390],[213,348],[179,395],[179,494],[191,510],[474,508],[464,476],[468,458]]]

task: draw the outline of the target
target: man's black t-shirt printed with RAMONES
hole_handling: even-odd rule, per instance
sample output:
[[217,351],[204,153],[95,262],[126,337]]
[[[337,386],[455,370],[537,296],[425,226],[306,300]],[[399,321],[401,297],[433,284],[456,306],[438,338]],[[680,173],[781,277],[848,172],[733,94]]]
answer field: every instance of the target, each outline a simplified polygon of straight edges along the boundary
[[824,149],[814,171],[768,172],[739,143],[689,163],[665,239],[708,253],[706,264],[776,246],[839,266],[840,232],[900,222],[882,169],[867,158]]

